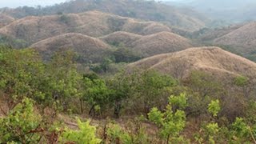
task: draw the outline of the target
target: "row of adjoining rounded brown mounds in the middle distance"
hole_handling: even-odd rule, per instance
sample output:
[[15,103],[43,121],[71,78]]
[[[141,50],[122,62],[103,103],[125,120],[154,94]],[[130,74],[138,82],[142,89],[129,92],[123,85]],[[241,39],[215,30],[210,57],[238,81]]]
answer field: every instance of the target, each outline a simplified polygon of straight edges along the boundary
[[102,62],[103,58],[112,54],[111,51],[121,48],[122,44],[144,58],[155,54],[185,50],[192,46],[188,39],[170,32],[142,36],[120,31],[101,38],[78,33],[60,34],[36,42],[30,47],[38,50],[45,59],[49,59],[54,52],[59,50],[74,50],[79,55],[80,62],[88,63]]

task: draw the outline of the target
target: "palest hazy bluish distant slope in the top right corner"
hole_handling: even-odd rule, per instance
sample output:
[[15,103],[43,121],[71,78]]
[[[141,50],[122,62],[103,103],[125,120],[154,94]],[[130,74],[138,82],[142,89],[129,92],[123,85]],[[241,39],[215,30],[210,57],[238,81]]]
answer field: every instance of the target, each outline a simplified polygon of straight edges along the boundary
[[171,5],[188,6],[210,16],[230,22],[256,20],[256,2],[254,0],[184,0]]

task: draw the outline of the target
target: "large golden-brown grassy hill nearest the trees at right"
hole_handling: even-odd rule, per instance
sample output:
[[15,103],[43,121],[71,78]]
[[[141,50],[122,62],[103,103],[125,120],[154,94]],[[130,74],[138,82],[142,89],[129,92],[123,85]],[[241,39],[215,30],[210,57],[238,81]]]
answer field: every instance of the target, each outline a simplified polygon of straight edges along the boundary
[[215,46],[194,47],[170,54],[158,54],[129,65],[130,68],[154,69],[172,75],[176,73],[178,66],[186,66],[184,78],[190,74],[191,70],[206,71],[217,78],[228,78],[238,74],[249,78],[256,76],[256,63]]

